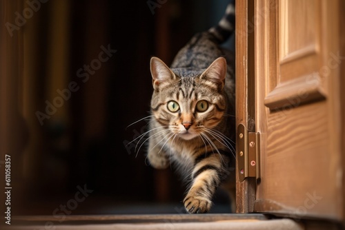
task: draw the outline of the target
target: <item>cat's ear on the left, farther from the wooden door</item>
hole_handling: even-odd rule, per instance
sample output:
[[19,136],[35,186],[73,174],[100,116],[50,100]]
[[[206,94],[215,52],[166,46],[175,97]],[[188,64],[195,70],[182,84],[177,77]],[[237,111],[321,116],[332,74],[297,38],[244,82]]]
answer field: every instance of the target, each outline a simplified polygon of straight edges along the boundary
[[170,68],[157,57],[152,57],[150,61],[150,70],[152,75],[153,87],[157,87],[160,83],[171,79],[176,79],[175,74]]

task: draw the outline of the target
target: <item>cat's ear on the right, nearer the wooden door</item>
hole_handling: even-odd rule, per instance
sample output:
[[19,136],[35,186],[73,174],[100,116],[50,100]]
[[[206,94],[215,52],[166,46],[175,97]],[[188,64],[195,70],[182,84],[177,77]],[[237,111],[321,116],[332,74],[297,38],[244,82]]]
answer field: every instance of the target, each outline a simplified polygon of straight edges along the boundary
[[212,64],[201,74],[200,79],[206,79],[216,83],[219,90],[222,90],[226,76],[226,60],[224,57],[215,59]]

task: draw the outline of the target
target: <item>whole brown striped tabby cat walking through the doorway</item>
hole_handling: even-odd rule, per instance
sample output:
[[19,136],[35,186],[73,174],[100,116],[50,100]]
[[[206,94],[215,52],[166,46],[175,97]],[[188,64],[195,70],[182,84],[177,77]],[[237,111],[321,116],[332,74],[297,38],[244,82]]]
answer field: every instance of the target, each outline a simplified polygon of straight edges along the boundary
[[150,165],[172,163],[188,182],[184,207],[206,213],[223,180],[234,177],[235,74],[233,56],[221,43],[235,30],[230,3],[218,25],[195,34],[168,67],[152,57]]

